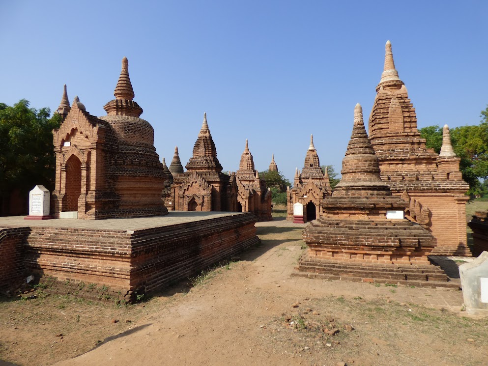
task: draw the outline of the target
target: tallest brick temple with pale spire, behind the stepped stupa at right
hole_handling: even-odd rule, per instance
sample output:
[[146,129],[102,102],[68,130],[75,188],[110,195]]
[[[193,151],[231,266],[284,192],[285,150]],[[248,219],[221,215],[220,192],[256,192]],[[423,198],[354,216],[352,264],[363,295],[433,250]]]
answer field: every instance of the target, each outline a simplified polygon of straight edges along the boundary
[[426,148],[417,130],[415,108],[408,98],[386,43],[385,63],[369,120],[369,136],[381,179],[407,203],[406,217],[427,228],[437,239],[432,254],[471,255],[466,243],[468,185],[459,171],[444,128],[443,150]]

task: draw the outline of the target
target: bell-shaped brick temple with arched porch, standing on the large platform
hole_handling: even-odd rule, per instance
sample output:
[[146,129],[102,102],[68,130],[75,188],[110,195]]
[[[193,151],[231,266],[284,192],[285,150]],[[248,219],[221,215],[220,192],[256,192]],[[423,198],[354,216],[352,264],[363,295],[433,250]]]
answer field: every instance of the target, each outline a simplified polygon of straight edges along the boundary
[[115,86],[106,116],[86,111],[75,97],[70,106],[64,87],[57,110],[63,117],[53,131],[56,188],[52,212],[57,218],[107,219],[165,215],[161,199],[165,177],[154,147],[154,130],[140,118],[129,63]]

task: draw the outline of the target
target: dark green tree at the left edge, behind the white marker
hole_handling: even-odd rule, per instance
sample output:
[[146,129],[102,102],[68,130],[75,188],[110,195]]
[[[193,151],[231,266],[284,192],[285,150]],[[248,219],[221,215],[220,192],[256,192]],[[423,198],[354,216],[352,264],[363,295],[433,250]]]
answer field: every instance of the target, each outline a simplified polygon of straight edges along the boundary
[[36,185],[52,190],[55,155],[52,131],[59,128],[61,116],[50,118],[49,108],[29,108],[20,100],[13,107],[0,103],[0,208],[8,206],[16,189],[27,197]]

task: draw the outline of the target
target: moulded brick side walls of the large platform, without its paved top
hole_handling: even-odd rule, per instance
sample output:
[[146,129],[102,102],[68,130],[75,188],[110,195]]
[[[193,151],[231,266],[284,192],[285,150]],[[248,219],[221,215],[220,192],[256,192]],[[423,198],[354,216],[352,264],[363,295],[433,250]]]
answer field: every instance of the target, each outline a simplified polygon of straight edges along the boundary
[[242,213],[134,232],[34,226],[24,266],[57,293],[130,301],[257,244],[256,221]]

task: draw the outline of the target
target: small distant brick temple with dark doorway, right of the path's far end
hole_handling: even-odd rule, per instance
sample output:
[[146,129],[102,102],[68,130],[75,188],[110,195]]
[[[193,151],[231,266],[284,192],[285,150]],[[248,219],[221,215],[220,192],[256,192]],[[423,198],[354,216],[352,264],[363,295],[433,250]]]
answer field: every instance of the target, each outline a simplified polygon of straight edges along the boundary
[[287,220],[293,220],[293,205],[297,202],[304,206],[303,220],[315,220],[322,214],[320,202],[330,196],[331,192],[327,170],[324,173],[320,168],[314,137],[311,135],[303,169],[295,170],[293,188],[287,189]]

